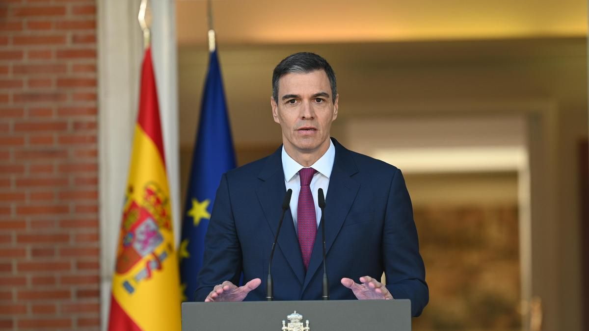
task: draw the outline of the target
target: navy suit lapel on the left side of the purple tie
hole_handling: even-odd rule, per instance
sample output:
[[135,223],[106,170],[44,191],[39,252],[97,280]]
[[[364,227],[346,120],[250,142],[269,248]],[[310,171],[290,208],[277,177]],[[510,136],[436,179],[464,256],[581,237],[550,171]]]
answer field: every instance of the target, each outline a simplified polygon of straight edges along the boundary
[[[274,154],[270,155],[266,165],[259,174],[259,178],[264,182],[256,189],[256,194],[266,221],[272,229],[272,234],[276,235],[278,223],[280,221],[280,214],[282,213],[282,201],[284,194],[286,194],[286,186],[284,185],[284,173],[282,171],[282,147],[280,147]],[[296,198],[296,197],[293,197]],[[272,245],[272,243],[270,243]],[[302,284],[305,279],[305,269],[303,267],[303,258],[300,253],[299,241],[294,231],[294,224],[292,220],[292,213],[290,210],[286,211],[284,221],[280,234],[278,237],[279,250],[282,251],[284,258],[289,263],[293,273],[296,274],[297,279]],[[267,247],[270,252],[272,246]],[[276,259],[276,252],[274,252],[274,259]]]

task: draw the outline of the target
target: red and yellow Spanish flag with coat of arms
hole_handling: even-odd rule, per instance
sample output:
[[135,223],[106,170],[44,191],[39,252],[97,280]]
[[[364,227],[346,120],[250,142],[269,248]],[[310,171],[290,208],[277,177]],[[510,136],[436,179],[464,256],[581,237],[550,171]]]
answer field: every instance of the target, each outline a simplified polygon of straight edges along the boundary
[[180,330],[180,280],[151,49],[141,72],[108,330]]

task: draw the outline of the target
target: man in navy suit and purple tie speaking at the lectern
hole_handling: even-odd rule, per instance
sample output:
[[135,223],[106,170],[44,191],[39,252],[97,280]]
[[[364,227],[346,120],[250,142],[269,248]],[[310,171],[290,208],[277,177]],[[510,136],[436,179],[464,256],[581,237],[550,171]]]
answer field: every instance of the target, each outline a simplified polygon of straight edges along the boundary
[[[287,188],[293,194],[272,261],[274,298],[320,299],[322,188],[331,299],[411,299],[412,315],[420,315],[429,292],[401,171],[330,138],[339,95],[325,59],[290,55],[274,69],[272,83],[272,116],[283,145],[221,178],[196,299],[265,299],[260,283]],[[383,272],[386,286],[378,281]],[[246,284],[237,286],[242,273]]]

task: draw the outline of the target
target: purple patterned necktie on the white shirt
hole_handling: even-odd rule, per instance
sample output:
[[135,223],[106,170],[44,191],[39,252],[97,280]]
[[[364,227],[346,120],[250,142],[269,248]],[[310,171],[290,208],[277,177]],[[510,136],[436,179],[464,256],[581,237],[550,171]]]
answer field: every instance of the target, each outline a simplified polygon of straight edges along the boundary
[[317,217],[315,216],[315,204],[311,194],[311,180],[317,170],[313,168],[302,168],[299,171],[300,193],[297,206],[297,228],[299,230],[300,252],[303,255],[305,270],[309,266],[315,234],[317,233]]

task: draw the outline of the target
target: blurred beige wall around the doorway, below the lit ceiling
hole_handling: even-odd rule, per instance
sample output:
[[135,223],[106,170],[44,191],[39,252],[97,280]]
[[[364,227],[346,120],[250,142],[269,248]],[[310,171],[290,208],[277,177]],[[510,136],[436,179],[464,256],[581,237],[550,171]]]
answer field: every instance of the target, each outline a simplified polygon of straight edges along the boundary
[[[584,38],[333,45],[232,45],[219,39],[233,137],[241,155],[280,144],[270,117],[270,80],[280,59],[315,51],[335,68],[340,93],[333,135],[346,141],[346,125],[366,117],[451,117],[525,114],[542,127],[530,144],[541,177],[534,213],[534,291],[545,303],[545,330],[579,330],[580,216],[577,142],[587,137],[587,49]],[[180,142],[190,155],[197,127],[207,54],[178,52]],[[536,139],[538,138],[538,139]],[[247,159],[247,157],[242,157]],[[188,162],[189,163],[189,162]],[[187,164],[183,164],[186,178]],[[533,167],[532,167],[533,168]],[[181,179],[181,183],[186,180]],[[534,220],[532,220],[534,221]]]

